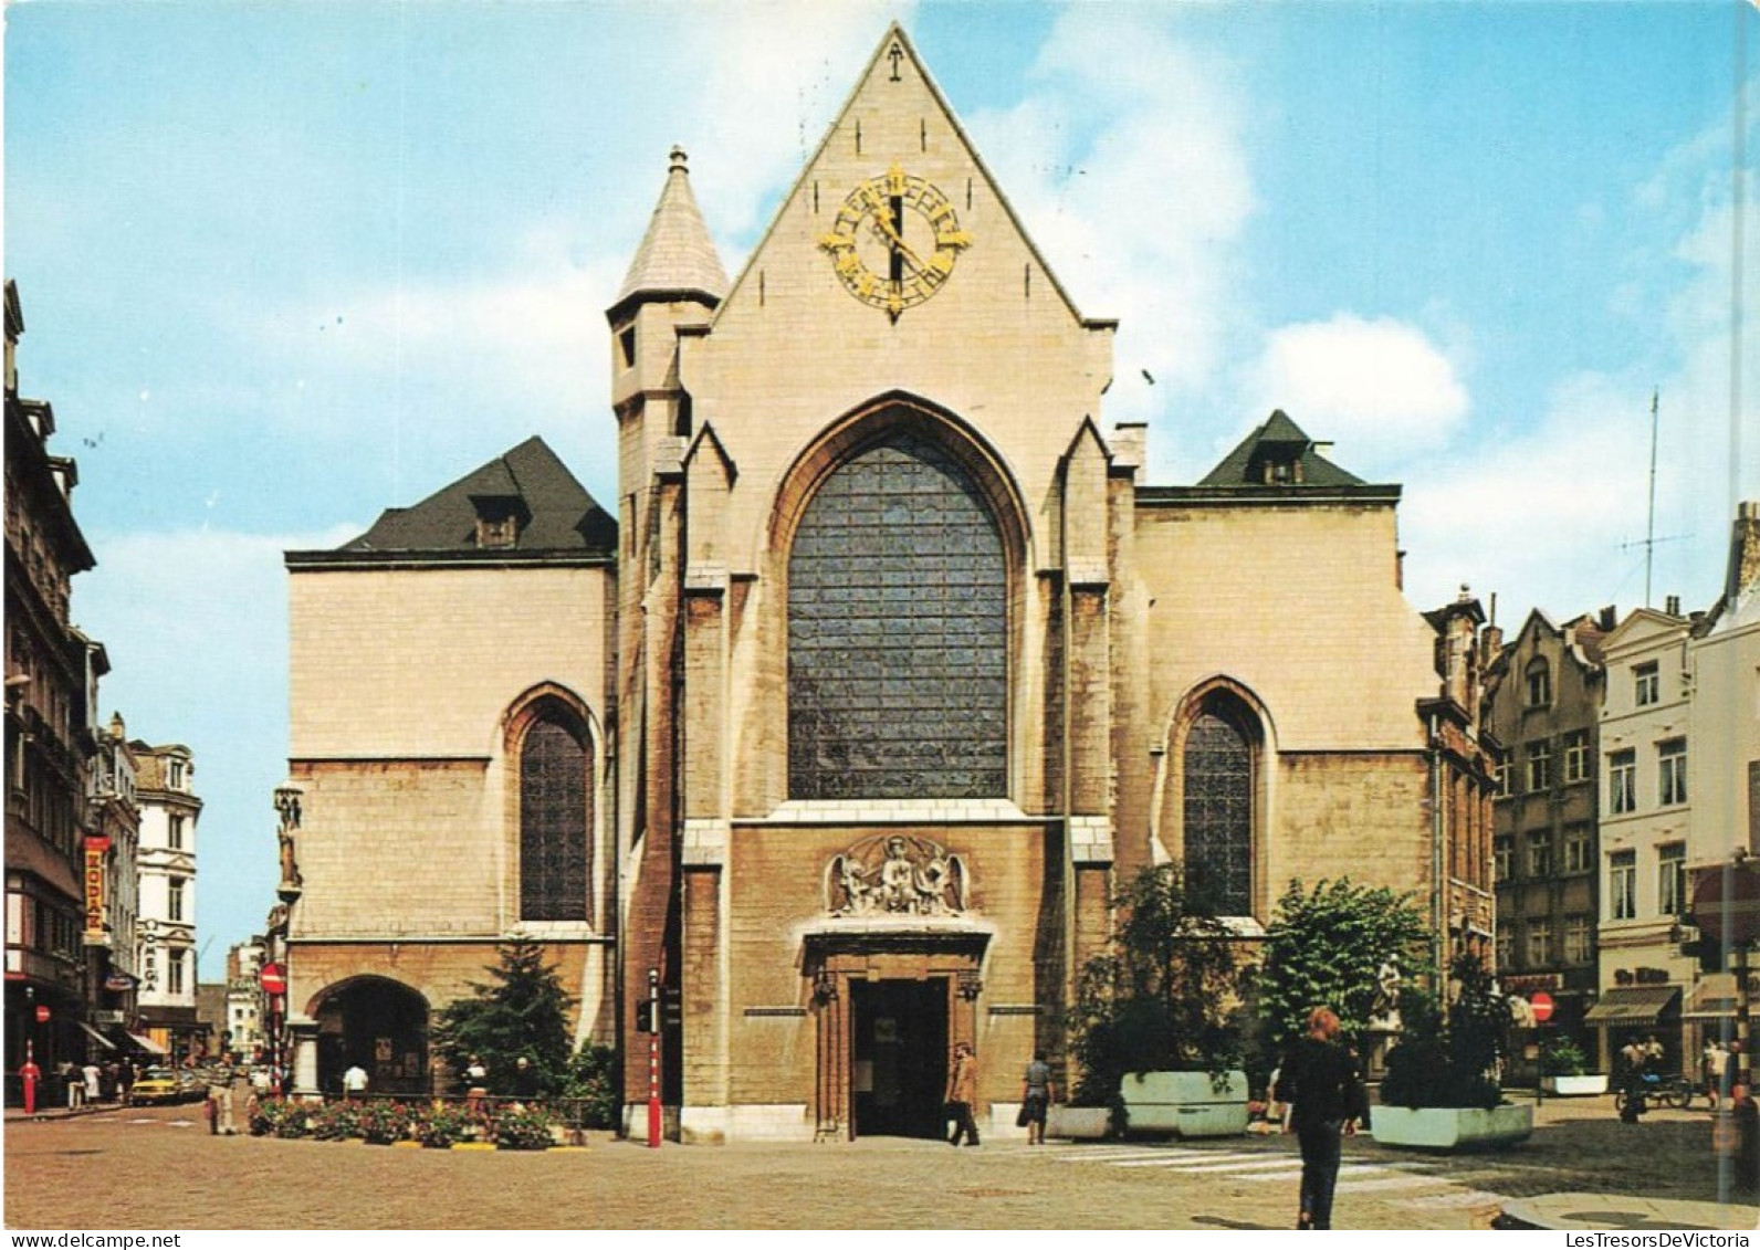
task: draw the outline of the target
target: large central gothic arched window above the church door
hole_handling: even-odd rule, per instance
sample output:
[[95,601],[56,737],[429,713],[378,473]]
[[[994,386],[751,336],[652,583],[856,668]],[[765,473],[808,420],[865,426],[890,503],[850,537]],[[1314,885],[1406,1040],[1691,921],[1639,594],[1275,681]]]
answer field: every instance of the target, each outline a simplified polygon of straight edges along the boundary
[[788,794],[1000,798],[1008,570],[970,472],[894,431],[832,470],[788,553]]

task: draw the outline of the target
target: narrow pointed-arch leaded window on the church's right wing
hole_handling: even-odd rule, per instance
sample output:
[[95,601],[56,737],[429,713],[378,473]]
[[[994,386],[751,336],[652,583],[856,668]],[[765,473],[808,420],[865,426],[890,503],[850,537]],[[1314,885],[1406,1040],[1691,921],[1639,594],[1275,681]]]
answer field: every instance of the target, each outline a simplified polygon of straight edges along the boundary
[[1186,734],[1186,879],[1220,915],[1253,914],[1253,750],[1204,711]]

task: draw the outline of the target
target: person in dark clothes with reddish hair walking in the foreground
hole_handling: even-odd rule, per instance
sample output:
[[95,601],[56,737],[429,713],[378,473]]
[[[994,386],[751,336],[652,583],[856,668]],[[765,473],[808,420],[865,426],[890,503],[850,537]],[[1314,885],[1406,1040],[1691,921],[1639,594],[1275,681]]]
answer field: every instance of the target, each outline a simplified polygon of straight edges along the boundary
[[1338,1016],[1329,1007],[1308,1012],[1308,1033],[1285,1056],[1276,1090],[1280,1102],[1292,1104],[1290,1123],[1302,1148],[1297,1229],[1332,1227],[1339,1137],[1357,1132],[1357,1113],[1366,1106],[1357,1065],[1338,1035]]

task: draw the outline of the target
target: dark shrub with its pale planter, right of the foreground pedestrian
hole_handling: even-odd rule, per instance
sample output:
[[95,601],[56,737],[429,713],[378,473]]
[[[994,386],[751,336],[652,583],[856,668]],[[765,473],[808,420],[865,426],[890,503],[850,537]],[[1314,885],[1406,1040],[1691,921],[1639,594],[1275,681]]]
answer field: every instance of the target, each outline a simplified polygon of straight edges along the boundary
[[1387,1146],[1471,1150],[1514,1144],[1533,1132],[1533,1104],[1505,1102],[1498,1083],[1508,1000],[1473,954],[1456,960],[1454,984],[1447,1009],[1422,989],[1401,998],[1404,1028],[1387,1053],[1373,1127]]

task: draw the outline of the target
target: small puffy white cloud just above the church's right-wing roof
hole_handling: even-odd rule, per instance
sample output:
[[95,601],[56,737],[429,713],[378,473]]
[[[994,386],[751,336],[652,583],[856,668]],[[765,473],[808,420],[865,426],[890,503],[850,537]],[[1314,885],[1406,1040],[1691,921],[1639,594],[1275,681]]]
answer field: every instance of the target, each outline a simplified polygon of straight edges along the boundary
[[1355,313],[1283,326],[1250,370],[1255,412],[1283,408],[1316,438],[1375,468],[1443,445],[1470,401],[1454,363],[1424,331]]

